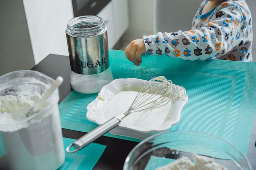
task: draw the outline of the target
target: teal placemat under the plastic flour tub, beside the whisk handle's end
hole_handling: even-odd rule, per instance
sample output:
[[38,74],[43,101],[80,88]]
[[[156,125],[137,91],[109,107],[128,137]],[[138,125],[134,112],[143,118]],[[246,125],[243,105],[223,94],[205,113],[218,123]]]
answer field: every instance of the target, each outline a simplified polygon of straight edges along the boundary
[[[63,138],[64,148],[72,144],[75,139]],[[63,165],[58,170],[92,170],[106,146],[91,143],[75,153],[67,153]]]

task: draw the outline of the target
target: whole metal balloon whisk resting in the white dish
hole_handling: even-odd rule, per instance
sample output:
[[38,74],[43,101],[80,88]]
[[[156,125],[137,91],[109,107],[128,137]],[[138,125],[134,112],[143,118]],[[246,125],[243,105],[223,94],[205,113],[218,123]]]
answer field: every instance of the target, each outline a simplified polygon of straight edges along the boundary
[[77,139],[66,148],[66,151],[73,153],[81,150],[95,139],[99,138],[112,128],[118,126],[121,120],[130,113],[152,110],[166,105],[171,100],[171,95],[173,92],[172,87],[171,80],[167,80],[164,76],[155,77],[145,82],[136,95],[130,108],[125,113],[113,117],[106,123],[98,126],[91,132]]

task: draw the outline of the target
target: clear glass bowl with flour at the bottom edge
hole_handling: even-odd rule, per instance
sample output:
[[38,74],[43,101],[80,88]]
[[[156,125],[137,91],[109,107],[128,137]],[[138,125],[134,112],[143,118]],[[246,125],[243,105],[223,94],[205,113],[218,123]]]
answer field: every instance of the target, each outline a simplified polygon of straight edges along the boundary
[[[192,166],[200,166],[197,170],[217,170],[213,164],[215,168],[218,165],[227,170],[252,170],[247,157],[233,144],[220,137],[187,130],[160,132],[144,139],[127,156],[124,170],[176,170],[177,164],[184,165],[187,158]],[[167,164],[172,168],[162,168]]]

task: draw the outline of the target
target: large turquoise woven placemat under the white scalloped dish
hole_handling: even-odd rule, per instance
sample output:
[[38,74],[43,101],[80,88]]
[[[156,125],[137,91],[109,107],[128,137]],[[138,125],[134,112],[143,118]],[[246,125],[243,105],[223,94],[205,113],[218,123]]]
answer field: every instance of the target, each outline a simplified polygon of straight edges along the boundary
[[[115,79],[149,80],[162,75],[186,89],[189,101],[170,130],[217,135],[247,155],[256,111],[256,62],[185,61],[162,55],[143,56],[138,67],[126,59],[124,51],[109,50],[109,57]],[[90,132],[97,127],[85,117],[86,106],[96,97],[70,93],[59,105],[62,128]],[[106,136],[139,141],[110,133]]]

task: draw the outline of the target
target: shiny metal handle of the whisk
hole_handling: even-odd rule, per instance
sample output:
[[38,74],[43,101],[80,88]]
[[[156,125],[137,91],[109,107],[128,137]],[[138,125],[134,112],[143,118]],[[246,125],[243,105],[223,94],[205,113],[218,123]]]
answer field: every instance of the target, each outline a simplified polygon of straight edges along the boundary
[[[125,117],[124,114],[119,115],[117,117],[113,117],[112,119],[108,120],[106,123],[98,126],[94,130],[90,131],[86,135],[83,135],[82,137],[74,141],[72,144],[70,144],[70,146],[66,148],[66,151],[69,153],[73,153],[81,150],[83,147],[87,146],[92,141],[98,139],[99,137],[104,135],[106,132],[108,132],[112,128],[115,128],[117,125],[119,125],[121,122],[121,119],[123,119],[124,117]],[[70,150],[71,148],[73,148],[73,150]]]

